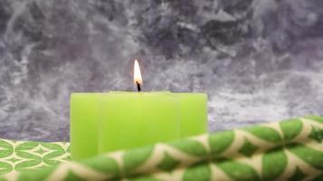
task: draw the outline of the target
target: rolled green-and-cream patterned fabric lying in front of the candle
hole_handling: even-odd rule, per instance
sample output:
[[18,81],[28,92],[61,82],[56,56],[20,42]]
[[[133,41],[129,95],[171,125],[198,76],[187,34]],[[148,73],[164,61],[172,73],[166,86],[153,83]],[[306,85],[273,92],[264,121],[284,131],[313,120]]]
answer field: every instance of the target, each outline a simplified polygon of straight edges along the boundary
[[[6,145],[5,150],[9,150],[8,147]],[[36,150],[33,152],[43,153]],[[2,160],[7,152],[1,152]],[[23,158],[31,158],[31,155],[23,155]],[[310,116],[221,131],[171,143],[157,143],[153,147],[120,150],[82,161],[65,161],[65,158],[59,160],[63,163],[57,166],[39,170],[32,169],[42,164],[31,162],[33,166],[29,171],[6,171],[3,179],[318,181],[323,180],[323,118]],[[3,163],[13,162],[19,161]],[[52,165],[46,166],[57,164],[49,163]]]

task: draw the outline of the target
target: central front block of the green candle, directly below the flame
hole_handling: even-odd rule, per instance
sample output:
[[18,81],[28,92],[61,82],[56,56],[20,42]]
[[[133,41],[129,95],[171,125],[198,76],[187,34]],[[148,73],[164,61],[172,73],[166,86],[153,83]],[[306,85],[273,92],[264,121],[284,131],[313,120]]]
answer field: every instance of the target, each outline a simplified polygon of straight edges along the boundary
[[179,138],[179,103],[169,92],[111,92],[101,98],[99,152]]

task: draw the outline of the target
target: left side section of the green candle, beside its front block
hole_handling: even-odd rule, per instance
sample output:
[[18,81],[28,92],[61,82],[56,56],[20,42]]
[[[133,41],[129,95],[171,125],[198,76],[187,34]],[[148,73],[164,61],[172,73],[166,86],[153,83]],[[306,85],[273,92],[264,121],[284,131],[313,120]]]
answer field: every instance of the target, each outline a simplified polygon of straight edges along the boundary
[[98,120],[101,93],[72,93],[70,110],[71,157],[98,155]]

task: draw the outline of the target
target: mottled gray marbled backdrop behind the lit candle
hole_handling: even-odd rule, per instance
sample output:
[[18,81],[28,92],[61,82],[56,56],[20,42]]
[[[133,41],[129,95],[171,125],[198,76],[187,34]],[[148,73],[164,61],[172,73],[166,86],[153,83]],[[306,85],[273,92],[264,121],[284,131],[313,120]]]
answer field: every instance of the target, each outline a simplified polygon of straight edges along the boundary
[[322,0],[0,0],[0,138],[69,139],[73,91],[204,91],[210,130],[323,115]]

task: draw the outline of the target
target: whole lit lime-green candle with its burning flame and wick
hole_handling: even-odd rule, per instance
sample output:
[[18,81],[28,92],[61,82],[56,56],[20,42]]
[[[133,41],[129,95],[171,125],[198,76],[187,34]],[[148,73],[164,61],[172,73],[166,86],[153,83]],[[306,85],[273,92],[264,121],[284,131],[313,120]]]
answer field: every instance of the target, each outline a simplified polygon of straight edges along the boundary
[[143,92],[137,61],[134,83],[138,92],[71,95],[73,159],[206,132],[206,94]]

